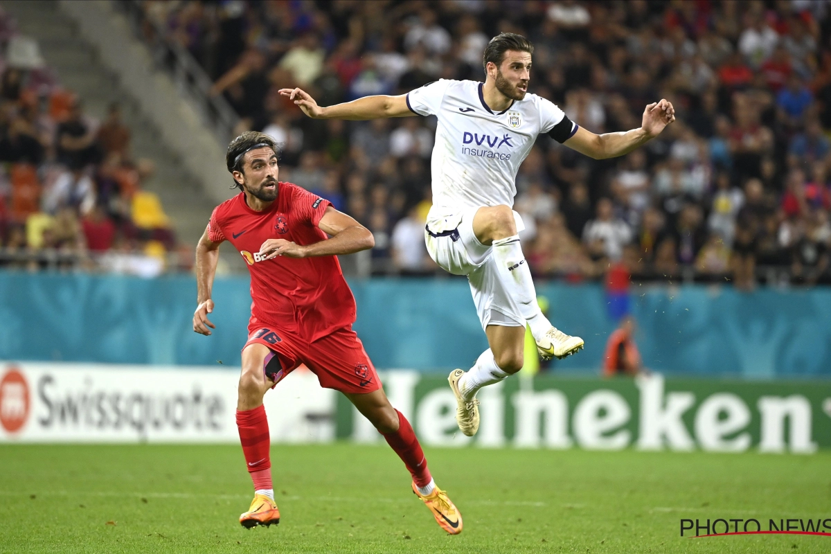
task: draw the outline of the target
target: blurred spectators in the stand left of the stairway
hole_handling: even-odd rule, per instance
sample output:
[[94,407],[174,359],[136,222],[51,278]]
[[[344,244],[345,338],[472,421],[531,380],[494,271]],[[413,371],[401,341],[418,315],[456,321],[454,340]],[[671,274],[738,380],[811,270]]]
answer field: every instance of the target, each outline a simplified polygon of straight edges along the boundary
[[120,106],[86,114],[0,10],[0,267],[163,271],[176,238],[141,189],[153,170],[131,154]]

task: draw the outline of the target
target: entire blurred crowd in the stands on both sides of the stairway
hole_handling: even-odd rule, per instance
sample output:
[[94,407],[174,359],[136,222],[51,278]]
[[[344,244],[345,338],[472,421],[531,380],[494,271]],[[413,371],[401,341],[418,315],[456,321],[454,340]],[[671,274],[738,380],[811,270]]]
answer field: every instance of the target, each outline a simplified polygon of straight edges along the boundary
[[[612,289],[630,277],[745,290],[831,282],[829,2],[140,5],[155,22],[148,40],[162,29],[199,61],[210,94],[240,116],[235,131],[263,130],[283,145],[281,180],[371,229],[373,273],[436,271],[423,237],[435,119],[310,120],[278,89],[300,86],[331,105],[440,78],[481,81],[489,38],[517,32],[535,45],[530,91],[588,130],[636,128],[661,98],[677,114],[619,159],[538,139],[514,207],[538,276]],[[6,22],[2,32],[4,247],[177,248],[158,202],[146,207],[153,199],[140,183],[152,167],[131,159],[118,106],[105,121],[88,120],[71,94],[54,92],[47,70],[12,63],[13,29]],[[142,209],[155,216],[142,219]]]

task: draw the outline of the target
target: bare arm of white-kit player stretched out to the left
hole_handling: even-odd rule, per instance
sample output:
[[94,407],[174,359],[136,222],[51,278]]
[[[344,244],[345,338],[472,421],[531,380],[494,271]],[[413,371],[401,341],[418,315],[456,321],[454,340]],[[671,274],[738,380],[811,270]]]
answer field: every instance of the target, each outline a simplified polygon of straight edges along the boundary
[[385,117],[409,117],[416,115],[407,107],[406,95],[364,96],[352,102],[323,108],[309,93],[301,89],[280,89],[282,96],[300,106],[304,114],[314,120],[380,120]]

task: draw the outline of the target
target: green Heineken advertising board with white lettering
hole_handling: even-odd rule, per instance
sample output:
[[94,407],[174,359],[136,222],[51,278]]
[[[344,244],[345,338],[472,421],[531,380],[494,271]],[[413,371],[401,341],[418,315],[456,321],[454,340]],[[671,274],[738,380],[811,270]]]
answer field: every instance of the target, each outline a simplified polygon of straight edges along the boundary
[[[475,437],[455,423],[447,380],[381,375],[424,444],[487,448],[813,453],[831,447],[831,382],[513,377],[479,391]],[[337,396],[336,436],[375,442],[371,424]]]

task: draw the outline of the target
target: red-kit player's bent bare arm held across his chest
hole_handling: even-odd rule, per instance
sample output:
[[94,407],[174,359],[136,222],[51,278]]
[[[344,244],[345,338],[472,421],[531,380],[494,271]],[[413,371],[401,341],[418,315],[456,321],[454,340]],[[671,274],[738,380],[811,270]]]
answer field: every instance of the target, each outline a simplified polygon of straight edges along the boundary
[[375,238],[369,229],[346,213],[328,206],[317,227],[330,235],[328,240],[305,246],[291,243],[283,238],[269,238],[260,248],[260,256],[270,260],[273,257],[309,257],[352,254],[375,246]]

